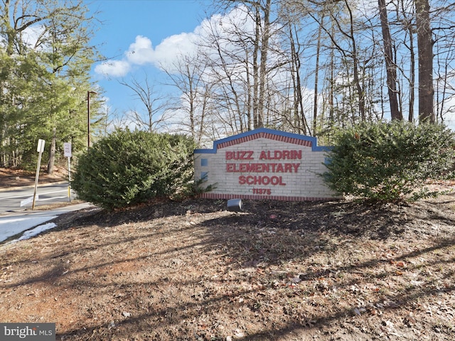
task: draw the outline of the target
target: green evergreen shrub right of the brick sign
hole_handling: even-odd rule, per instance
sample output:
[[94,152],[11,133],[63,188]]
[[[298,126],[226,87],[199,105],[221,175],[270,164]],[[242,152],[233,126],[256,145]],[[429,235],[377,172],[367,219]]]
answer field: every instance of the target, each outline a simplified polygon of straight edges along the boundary
[[453,178],[454,132],[405,121],[360,124],[338,131],[323,178],[339,194],[374,201],[437,196],[427,180]]

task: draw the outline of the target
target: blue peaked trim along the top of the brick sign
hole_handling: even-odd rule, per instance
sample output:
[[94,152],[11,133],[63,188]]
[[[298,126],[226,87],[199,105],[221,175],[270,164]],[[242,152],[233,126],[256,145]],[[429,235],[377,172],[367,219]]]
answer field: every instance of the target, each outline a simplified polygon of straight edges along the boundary
[[258,133],[266,133],[266,134],[273,134],[278,136],[289,137],[291,139],[299,139],[302,141],[310,141],[311,142],[311,151],[330,151],[333,147],[330,146],[318,146],[318,139],[314,136],[306,136],[294,133],[287,133],[286,131],[279,131],[274,129],[268,128],[258,128],[251,131],[246,131],[242,134],[237,134],[229,137],[225,137],[225,139],[220,139],[217,141],[213,141],[213,148],[212,149],[195,149],[194,153],[198,154],[215,154],[218,150],[218,144],[223,144],[225,142],[234,141],[237,139],[242,139],[242,137],[252,136]]

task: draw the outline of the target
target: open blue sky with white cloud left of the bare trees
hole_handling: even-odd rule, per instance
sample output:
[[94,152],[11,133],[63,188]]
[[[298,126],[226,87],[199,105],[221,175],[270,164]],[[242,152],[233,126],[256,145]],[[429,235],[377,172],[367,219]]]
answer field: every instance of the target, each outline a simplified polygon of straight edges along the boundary
[[[92,42],[109,60],[94,65],[92,80],[105,90],[109,113],[123,114],[141,105],[119,81],[143,79],[145,74],[159,81],[164,73],[156,65],[171,60],[173,48],[188,42],[210,4],[210,0],[87,1],[91,11],[100,11],[97,18],[102,21]],[[155,90],[160,89],[155,86]]]

